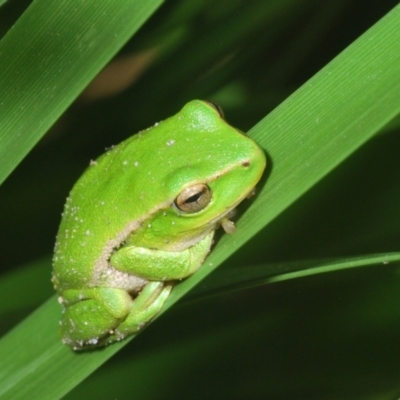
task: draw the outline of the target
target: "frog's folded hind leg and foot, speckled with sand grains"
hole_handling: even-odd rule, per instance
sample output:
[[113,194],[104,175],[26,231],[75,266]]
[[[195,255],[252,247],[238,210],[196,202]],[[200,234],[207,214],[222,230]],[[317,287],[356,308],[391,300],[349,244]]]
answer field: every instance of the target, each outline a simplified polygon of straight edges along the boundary
[[171,288],[163,282],[149,282],[133,300],[122,289],[66,290],[60,298],[63,342],[74,350],[85,350],[122,340],[157,315]]

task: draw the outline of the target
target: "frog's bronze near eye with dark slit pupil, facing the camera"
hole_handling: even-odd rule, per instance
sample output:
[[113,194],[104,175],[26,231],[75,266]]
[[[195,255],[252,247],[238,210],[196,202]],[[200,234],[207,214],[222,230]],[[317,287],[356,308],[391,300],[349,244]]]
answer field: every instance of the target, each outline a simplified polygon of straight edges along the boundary
[[191,214],[206,208],[211,201],[211,197],[210,188],[203,183],[199,183],[179,193],[174,204],[178,210]]

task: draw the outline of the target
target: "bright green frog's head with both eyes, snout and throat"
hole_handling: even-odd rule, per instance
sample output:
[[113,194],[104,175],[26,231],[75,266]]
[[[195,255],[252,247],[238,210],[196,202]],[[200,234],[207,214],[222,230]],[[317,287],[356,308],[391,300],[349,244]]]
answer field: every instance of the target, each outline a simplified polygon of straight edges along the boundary
[[157,180],[142,188],[153,207],[128,239],[138,246],[180,251],[195,244],[227,221],[266,166],[262,149],[204,101],[186,104],[141,139],[152,151],[140,164],[156,163]]

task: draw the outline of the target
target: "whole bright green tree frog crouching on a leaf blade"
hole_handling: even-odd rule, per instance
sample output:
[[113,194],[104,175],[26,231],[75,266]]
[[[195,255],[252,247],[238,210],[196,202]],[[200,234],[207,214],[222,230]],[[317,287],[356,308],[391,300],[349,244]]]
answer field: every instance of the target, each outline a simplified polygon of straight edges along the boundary
[[92,161],[55,244],[63,342],[103,346],[149,322],[202,265],[215,229],[233,231],[232,210],[265,165],[261,148],[200,100]]

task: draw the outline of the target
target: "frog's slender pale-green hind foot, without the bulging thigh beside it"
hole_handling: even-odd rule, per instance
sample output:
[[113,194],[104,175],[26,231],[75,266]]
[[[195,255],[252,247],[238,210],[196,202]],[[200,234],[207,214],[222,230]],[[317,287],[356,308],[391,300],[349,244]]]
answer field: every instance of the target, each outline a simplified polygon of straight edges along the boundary
[[165,285],[163,282],[149,282],[133,300],[132,308],[125,321],[105,339],[104,344],[122,340],[138,332],[159,313],[171,289],[172,285]]

